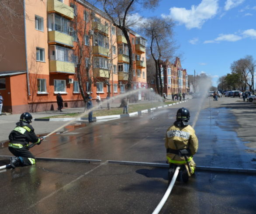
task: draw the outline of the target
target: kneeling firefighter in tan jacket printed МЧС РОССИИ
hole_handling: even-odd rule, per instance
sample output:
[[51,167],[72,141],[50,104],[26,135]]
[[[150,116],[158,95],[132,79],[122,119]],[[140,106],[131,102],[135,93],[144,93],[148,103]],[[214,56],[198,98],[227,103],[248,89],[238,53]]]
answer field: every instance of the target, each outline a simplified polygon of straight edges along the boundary
[[177,165],[181,165],[183,182],[188,181],[196,167],[193,155],[196,154],[198,149],[198,139],[194,128],[188,124],[189,119],[189,110],[180,108],[176,114],[176,121],[166,132],[166,158],[170,164],[169,181],[172,179]]

